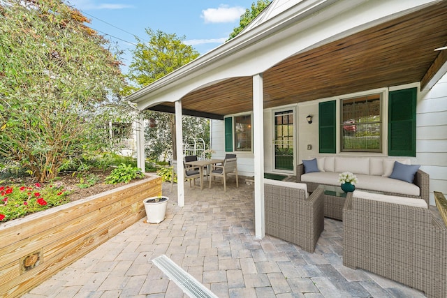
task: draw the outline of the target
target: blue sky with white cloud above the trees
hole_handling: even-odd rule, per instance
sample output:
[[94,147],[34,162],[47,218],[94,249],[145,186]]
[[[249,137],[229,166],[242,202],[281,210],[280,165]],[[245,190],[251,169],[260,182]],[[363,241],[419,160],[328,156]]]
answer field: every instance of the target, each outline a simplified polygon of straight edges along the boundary
[[[119,49],[124,50],[122,59],[124,64],[129,65],[131,50],[134,47],[131,43],[136,43],[133,36],[147,40],[146,28],[185,36],[187,44],[192,45],[200,54],[205,54],[228,38],[233,28],[239,25],[240,15],[255,1],[66,0],[65,2],[81,10],[91,20],[89,26],[92,29],[101,31],[101,35],[108,34],[105,37],[110,38],[112,42],[117,43]],[[122,70],[126,73],[127,66]]]

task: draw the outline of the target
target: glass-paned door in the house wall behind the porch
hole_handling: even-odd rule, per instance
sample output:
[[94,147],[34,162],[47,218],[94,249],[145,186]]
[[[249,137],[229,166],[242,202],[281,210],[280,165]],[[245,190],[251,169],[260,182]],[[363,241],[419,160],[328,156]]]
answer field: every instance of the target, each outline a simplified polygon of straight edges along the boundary
[[274,170],[293,171],[293,110],[274,112]]

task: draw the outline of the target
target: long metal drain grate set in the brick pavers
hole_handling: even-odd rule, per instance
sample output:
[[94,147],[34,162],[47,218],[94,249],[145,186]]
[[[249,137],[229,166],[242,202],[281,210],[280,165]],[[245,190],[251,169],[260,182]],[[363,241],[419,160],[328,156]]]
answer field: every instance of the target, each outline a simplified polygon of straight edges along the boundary
[[166,255],[160,255],[158,258],[152,260],[152,262],[159,267],[164,274],[168,276],[171,281],[174,281],[176,285],[183,290],[186,295],[194,298],[219,298],[214,295],[210,290],[205,288],[193,278],[191,274],[180,268],[173,260],[166,257]]

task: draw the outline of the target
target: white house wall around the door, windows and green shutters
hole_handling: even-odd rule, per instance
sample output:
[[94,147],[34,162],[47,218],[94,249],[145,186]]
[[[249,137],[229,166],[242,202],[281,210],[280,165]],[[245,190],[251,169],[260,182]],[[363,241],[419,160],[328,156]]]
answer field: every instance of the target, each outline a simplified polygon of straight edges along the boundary
[[[419,84],[408,84],[405,86],[390,87],[389,90],[406,89],[418,87]],[[340,97],[323,98],[309,102],[298,103],[295,123],[297,124],[297,160],[295,165],[301,163],[302,159],[318,156],[318,103],[326,100],[336,100]],[[384,100],[385,102],[388,101]],[[338,110],[337,101],[337,110]],[[384,110],[385,114],[388,112]],[[306,117],[312,115],[312,124],[308,124]],[[337,115],[338,117],[338,115]],[[386,115],[384,117],[387,118]],[[254,128],[256,133],[256,128]],[[225,156],[224,144],[224,122],[212,121],[212,148],[216,150],[215,156]],[[272,110],[264,112],[264,154],[265,172],[273,172],[272,166]],[[338,140],[338,137],[337,137]],[[386,156],[386,140],[383,140],[383,154],[368,154],[368,156]],[[312,145],[308,150],[307,145]],[[339,151],[339,150],[337,150]],[[254,175],[253,154],[246,152],[237,153],[237,168],[241,175]],[[340,154],[340,153],[338,153]],[[365,154],[342,153],[349,156],[364,156]],[[331,154],[326,154],[331,155]],[[334,154],[332,154],[334,155]],[[434,85],[430,91],[418,94],[416,107],[416,158],[411,158],[412,164],[421,165],[420,169],[430,174],[430,202],[434,204],[433,191],[447,193],[447,75]]]

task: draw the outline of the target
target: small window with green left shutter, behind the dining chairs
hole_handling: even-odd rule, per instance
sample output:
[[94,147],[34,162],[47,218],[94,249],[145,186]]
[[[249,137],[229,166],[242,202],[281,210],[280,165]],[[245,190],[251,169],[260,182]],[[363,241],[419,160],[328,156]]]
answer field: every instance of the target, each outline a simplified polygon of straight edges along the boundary
[[251,114],[225,118],[225,151],[251,151]]

